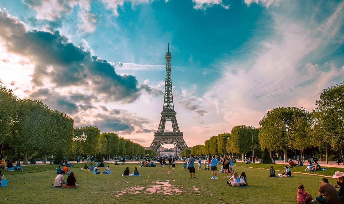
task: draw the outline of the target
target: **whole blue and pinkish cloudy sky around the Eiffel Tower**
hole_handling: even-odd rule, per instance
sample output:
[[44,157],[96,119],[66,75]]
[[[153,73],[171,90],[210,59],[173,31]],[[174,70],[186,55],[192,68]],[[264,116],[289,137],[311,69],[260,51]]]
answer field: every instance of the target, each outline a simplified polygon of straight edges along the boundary
[[0,0],[0,9],[3,84],[145,146],[160,121],[168,42],[188,145],[258,126],[278,106],[311,110],[343,81],[344,1]]

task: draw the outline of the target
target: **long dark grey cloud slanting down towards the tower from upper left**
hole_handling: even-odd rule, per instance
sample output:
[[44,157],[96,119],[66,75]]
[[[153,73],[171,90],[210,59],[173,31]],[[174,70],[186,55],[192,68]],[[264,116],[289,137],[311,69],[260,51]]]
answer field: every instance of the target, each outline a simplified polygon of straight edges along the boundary
[[[32,1],[37,3],[36,1]],[[0,38],[9,52],[30,58],[35,64],[32,82],[42,86],[49,79],[56,87],[88,86],[91,91],[103,94],[105,100],[130,103],[141,90],[149,94],[162,94],[148,85],[140,85],[135,76],[119,75],[106,60],[91,56],[83,47],[77,47],[61,35],[31,30],[26,31],[17,18],[0,11]]]

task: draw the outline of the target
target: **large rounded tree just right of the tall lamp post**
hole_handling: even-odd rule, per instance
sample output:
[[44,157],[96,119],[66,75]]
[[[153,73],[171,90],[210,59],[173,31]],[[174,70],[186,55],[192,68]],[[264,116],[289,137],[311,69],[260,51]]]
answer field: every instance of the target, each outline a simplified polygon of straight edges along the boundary
[[269,151],[283,150],[284,162],[288,161],[287,150],[291,147],[292,127],[296,119],[304,118],[307,112],[301,108],[279,107],[268,111],[259,122],[259,142],[261,148]]

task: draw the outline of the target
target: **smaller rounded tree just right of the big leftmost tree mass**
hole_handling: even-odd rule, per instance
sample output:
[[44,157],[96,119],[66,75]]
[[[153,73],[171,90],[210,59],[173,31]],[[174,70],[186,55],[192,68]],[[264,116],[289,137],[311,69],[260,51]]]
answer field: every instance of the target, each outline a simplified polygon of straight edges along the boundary
[[82,149],[89,154],[88,158],[90,159],[90,155],[95,154],[98,150],[100,130],[94,126],[86,126],[83,127],[83,132],[85,141],[82,142]]

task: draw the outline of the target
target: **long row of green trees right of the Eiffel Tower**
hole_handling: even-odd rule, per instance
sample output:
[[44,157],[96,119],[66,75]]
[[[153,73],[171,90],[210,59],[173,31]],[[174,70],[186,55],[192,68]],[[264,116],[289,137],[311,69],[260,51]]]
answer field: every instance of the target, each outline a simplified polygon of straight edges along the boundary
[[[327,162],[328,148],[341,151],[344,143],[344,83],[324,89],[315,102],[315,109],[306,111],[297,107],[278,107],[268,111],[255,128],[237,125],[230,133],[212,136],[204,145],[184,150],[181,156],[244,154],[252,151],[283,151],[284,161],[288,150],[298,150],[304,161],[304,150],[310,147],[325,147]],[[252,149],[253,146],[253,149]],[[188,154],[189,153],[189,154]],[[321,153],[319,153],[321,155]]]

